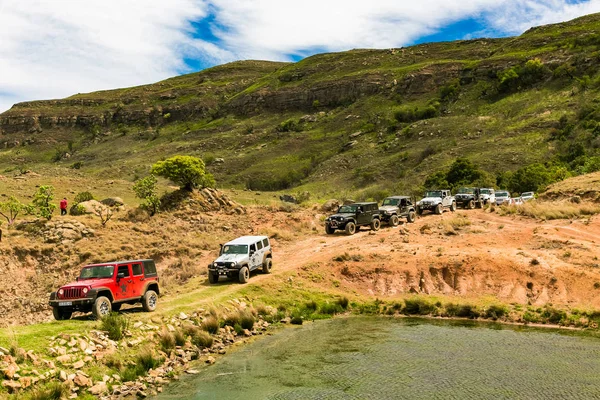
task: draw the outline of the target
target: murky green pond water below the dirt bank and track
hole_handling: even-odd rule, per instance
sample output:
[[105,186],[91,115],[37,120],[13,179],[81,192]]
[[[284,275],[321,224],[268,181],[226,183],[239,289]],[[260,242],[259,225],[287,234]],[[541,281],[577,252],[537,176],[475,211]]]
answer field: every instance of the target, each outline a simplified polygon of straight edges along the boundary
[[351,317],[283,329],[200,371],[156,399],[600,399],[600,340]]

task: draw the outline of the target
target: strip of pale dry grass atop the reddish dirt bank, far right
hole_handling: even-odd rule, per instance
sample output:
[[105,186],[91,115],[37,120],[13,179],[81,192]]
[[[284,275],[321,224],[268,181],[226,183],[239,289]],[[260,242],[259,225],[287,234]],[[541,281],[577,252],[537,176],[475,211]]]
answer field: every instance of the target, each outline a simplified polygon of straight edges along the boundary
[[573,219],[600,213],[600,205],[589,202],[580,204],[568,201],[530,201],[520,206],[500,208],[501,215],[523,215],[541,220]]

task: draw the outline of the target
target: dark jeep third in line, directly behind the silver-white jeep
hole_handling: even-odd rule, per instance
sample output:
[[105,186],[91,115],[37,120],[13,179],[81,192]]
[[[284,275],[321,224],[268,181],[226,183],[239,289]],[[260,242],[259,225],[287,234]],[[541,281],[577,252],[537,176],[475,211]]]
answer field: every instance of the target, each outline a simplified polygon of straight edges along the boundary
[[337,214],[325,220],[325,232],[331,235],[336,230],[353,235],[361,226],[370,226],[377,231],[381,226],[381,216],[377,203],[354,203],[340,206]]

